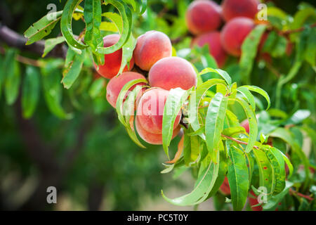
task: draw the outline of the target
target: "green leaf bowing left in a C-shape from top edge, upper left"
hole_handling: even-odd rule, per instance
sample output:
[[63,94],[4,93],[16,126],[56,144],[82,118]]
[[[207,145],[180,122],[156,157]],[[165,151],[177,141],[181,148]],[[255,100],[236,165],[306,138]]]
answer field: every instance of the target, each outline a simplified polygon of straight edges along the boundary
[[82,0],[67,0],[60,20],[60,30],[62,35],[65,37],[67,44],[74,49],[86,49],[88,47],[88,45],[77,41],[72,33],[72,14],[81,1]]

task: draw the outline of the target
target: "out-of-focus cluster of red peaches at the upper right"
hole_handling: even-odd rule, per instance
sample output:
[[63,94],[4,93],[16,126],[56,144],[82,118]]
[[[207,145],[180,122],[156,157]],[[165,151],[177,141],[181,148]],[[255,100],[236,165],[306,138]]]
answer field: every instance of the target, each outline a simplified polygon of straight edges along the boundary
[[[192,46],[209,45],[209,53],[215,58],[218,67],[222,68],[228,54],[236,57],[241,55],[244,39],[256,23],[262,23],[256,20],[258,4],[258,0],[224,0],[221,6],[210,0],[192,1],[186,13],[187,27],[195,35]],[[267,37],[268,32],[261,39],[259,51]],[[290,48],[288,42],[288,54]],[[265,60],[270,58],[268,53],[261,55]]]

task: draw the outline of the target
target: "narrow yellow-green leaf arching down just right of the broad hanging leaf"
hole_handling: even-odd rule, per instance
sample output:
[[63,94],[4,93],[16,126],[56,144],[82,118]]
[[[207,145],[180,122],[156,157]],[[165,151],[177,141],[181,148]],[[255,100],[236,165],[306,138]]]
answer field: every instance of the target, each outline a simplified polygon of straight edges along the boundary
[[258,125],[257,125],[257,118],[256,114],[254,113],[254,109],[246,103],[241,98],[235,98],[235,101],[237,101],[240,105],[242,105],[242,108],[244,108],[244,112],[246,113],[247,119],[249,121],[249,141],[246,146],[246,153],[249,153],[252,148],[254,148],[254,144],[256,143],[257,135],[258,135]]

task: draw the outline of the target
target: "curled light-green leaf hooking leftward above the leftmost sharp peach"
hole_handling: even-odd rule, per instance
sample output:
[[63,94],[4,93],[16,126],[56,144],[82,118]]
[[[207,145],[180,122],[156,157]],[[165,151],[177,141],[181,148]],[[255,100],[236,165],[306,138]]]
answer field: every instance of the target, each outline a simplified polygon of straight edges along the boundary
[[117,18],[110,18],[110,15],[117,15],[117,14],[105,14],[103,13],[103,15],[107,15],[107,18],[110,18],[110,20],[112,20],[113,23],[115,23],[117,25],[117,27],[119,28],[119,30],[121,31],[121,38],[119,39],[119,41],[117,41],[116,44],[110,46],[110,47],[98,47],[98,53],[102,53],[102,54],[109,54],[109,53],[113,53],[114,51],[117,51],[119,49],[121,49],[121,46],[123,46],[126,41],[129,40],[129,36],[131,35],[131,23],[132,23],[132,14],[131,14],[131,10],[129,9],[129,7],[125,6],[124,4],[121,3],[121,1],[114,1],[114,0],[107,0],[105,1],[105,4],[112,4],[112,6],[114,6],[115,8],[117,8],[117,10],[119,11],[119,14],[121,15],[121,23],[118,25],[117,24]]

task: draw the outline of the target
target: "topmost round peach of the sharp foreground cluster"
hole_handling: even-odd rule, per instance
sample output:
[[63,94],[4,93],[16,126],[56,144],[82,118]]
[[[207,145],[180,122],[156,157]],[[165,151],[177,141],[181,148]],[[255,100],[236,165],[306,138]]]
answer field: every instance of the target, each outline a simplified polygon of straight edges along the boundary
[[135,64],[149,71],[159,59],[172,55],[171,41],[166,34],[155,30],[140,35],[133,52]]

